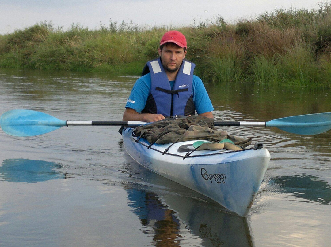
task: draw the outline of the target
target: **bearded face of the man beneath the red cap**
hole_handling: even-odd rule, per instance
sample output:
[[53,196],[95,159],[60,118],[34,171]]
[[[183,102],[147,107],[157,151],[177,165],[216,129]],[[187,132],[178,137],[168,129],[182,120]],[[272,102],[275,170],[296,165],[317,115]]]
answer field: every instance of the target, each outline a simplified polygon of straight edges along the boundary
[[168,72],[176,72],[186,55],[184,48],[180,48],[176,44],[166,43],[161,51],[158,49],[159,55],[161,56],[162,65]]

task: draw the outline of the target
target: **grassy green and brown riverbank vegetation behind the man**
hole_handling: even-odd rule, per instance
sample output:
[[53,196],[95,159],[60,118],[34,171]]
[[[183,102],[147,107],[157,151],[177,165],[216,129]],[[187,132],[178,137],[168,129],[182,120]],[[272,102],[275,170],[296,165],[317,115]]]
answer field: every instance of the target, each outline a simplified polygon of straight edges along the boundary
[[41,22],[0,35],[0,68],[140,75],[146,61],[158,56],[164,32],[177,29],[188,41],[186,58],[204,80],[331,88],[331,4],[319,6],[179,28],[110,21],[97,30],[76,24],[64,31]]

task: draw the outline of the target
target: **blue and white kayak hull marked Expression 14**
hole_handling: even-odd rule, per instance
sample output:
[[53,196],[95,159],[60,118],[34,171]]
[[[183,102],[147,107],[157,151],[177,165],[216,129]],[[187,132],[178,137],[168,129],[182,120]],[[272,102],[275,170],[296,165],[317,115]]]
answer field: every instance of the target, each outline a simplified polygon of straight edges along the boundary
[[247,216],[270,160],[265,148],[178,152],[179,147],[187,148],[196,141],[150,146],[143,138],[137,141],[132,131],[133,128],[124,129],[123,144],[138,163],[210,197],[227,211]]

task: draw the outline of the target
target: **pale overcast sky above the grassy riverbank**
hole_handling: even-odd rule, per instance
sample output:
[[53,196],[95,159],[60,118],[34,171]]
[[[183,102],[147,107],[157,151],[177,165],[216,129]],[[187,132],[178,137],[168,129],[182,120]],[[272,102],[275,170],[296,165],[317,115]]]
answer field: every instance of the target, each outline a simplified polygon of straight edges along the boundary
[[321,0],[0,0],[0,34],[40,21],[70,28],[72,23],[95,29],[130,22],[139,26],[189,26],[221,16],[228,23],[254,18],[275,9],[319,9]]

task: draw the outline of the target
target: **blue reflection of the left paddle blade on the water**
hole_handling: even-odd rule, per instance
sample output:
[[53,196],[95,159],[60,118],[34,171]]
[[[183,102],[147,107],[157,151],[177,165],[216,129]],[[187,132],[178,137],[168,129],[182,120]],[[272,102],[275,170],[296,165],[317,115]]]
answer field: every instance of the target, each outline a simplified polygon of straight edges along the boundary
[[62,165],[44,160],[5,159],[0,166],[0,178],[14,183],[46,182],[66,178],[59,171]]

